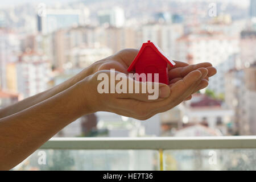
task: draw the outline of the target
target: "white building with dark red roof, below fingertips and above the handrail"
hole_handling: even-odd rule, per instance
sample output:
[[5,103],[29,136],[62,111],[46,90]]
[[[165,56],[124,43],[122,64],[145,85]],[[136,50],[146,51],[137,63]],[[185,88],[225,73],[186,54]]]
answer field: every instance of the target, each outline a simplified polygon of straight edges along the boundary
[[234,125],[232,109],[226,109],[221,101],[202,94],[194,94],[191,101],[181,105],[181,118],[184,125],[201,123],[220,130],[222,135],[229,135]]

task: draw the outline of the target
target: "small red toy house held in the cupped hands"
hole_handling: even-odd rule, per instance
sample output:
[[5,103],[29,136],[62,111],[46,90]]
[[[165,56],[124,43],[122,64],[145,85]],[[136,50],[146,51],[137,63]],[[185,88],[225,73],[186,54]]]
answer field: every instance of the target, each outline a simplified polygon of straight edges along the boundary
[[159,82],[169,85],[167,64],[174,67],[174,61],[164,56],[163,51],[154,43],[148,40],[143,43],[138,55],[135,57],[128,72],[135,71],[138,74],[152,73],[152,81],[154,82],[154,73],[159,73]]

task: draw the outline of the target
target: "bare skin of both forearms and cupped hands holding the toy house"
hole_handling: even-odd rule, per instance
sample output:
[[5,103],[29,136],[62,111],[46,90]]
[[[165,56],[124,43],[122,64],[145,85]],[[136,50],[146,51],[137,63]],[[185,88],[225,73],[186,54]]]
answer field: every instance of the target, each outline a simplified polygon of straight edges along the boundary
[[191,99],[191,95],[205,88],[209,77],[216,74],[210,63],[188,65],[175,61],[175,67],[168,68],[170,85],[159,84],[162,92],[157,100],[148,100],[147,93],[98,93],[98,74],[110,74],[112,68],[116,73],[127,74],[137,53],[137,49],[120,51],[97,61],[60,85],[1,109],[0,169],[15,167],[82,115],[110,111],[144,120]]

